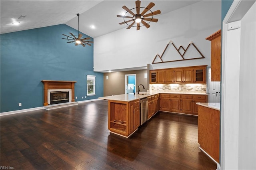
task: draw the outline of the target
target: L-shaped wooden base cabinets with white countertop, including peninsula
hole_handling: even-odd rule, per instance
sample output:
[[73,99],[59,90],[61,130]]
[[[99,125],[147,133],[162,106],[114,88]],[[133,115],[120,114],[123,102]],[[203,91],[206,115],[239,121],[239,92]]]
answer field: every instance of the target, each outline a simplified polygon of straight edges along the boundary
[[[123,94],[99,97],[108,100],[108,129],[114,134],[129,137],[141,123],[140,101],[147,99],[146,119],[150,119],[158,111],[197,115],[196,102],[207,102],[206,93],[160,93]],[[144,116],[145,117],[145,116]]]

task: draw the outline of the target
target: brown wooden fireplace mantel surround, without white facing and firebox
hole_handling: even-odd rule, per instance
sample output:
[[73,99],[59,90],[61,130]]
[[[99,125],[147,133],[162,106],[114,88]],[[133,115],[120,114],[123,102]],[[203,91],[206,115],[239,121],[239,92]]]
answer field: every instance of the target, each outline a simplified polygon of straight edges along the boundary
[[42,80],[44,83],[44,106],[48,106],[48,89],[72,89],[71,101],[75,101],[75,83],[76,81],[56,81]]

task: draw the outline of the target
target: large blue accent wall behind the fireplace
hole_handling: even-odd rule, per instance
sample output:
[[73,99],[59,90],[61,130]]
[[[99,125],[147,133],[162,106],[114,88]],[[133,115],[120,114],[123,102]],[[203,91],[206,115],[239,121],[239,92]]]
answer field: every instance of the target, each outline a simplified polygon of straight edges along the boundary
[[[69,32],[77,35],[65,24],[1,34],[1,113],[42,107],[42,80],[77,81],[76,101],[103,96],[103,73],[93,71],[93,44],[67,43],[62,34]],[[96,75],[96,95],[85,99],[87,75]]]

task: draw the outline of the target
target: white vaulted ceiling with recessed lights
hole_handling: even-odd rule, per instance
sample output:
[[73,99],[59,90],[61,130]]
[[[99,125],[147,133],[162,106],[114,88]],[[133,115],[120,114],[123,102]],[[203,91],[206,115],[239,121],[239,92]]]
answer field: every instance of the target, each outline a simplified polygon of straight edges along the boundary
[[[152,12],[160,10],[161,14],[165,14],[199,1],[142,0],[141,7],[148,6],[150,2],[156,4],[151,9]],[[126,24],[119,25],[118,23],[123,22],[123,19],[116,17],[117,14],[126,12],[122,9],[124,5],[129,9],[135,8],[135,0],[1,0],[0,33],[58,24],[67,24],[77,30],[78,17],[76,14],[79,13],[79,31],[96,38],[127,27]],[[24,15],[26,15],[24,19],[18,19]],[[14,26],[12,23],[15,21],[20,22],[20,25]],[[92,29],[91,25],[94,25],[95,29]]]

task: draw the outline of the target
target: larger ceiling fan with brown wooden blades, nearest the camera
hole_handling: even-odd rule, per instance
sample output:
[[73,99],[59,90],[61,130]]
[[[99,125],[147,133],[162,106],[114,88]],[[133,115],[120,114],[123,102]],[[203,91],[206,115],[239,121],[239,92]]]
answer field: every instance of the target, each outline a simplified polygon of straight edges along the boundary
[[[132,9],[129,9],[126,6],[122,7],[127,12],[124,15],[117,15],[117,17],[124,18],[124,22],[119,23],[120,25],[127,24],[128,27],[126,29],[130,29],[131,27],[137,27],[137,30],[140,30],[141,26],[146,26],[146,28],[149,28],[150,22],[158,22],[158,19],[153,17],[154,15],[161,14],[161,11],[156,10],[152,12],[150,10],[153,6],[155,6],[153,2],[150,2],[146,8],[140,6],[140,0],[137,0],[135,2],[135,5],[136,7]],[[140,8],[144,8],[144,10],[141,13],[140,13]],[[135,9],[136,9],[136,12],[135,12]],[[132,10],[134,10],[135,13],[132,12]],[[132,16],[129,16],[130,14]],[[127,18],[129,18],[130,20]],[[132,23],[128,24],[128,22],[132,22]],[[135,23],[137,23],[136,26],[133,26]],[[142,25],[140,25],[140,23],[142,23]]]

